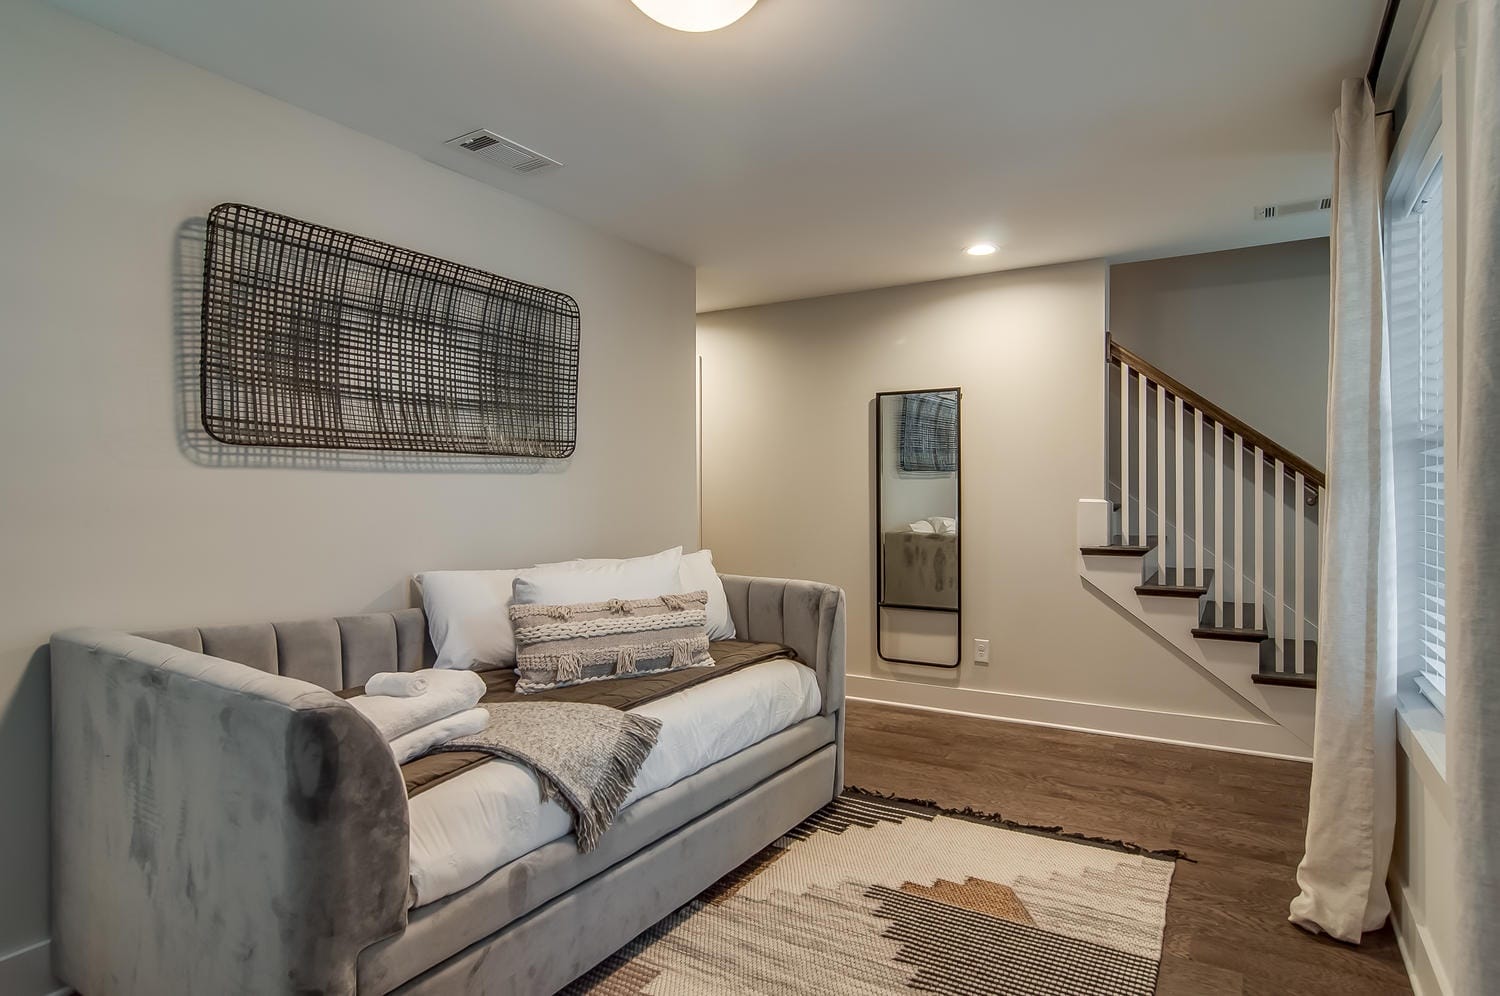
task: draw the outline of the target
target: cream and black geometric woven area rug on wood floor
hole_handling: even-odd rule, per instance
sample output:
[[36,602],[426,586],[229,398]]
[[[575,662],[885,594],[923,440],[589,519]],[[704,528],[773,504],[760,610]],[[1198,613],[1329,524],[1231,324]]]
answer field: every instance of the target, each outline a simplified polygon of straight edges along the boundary
[[1149,994],[1173,856],[849,792],[567,992]]

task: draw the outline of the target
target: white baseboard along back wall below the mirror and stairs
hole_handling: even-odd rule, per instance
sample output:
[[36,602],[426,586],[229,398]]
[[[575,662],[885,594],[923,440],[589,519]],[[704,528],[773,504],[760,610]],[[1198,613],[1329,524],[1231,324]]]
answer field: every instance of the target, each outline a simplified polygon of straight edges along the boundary
[[848,696],[856,702],[880,702],[932,712],[1052,726],[1082,734],[1104,734],[1258,758],[1311,760],[1306,746],[1276,723],[1042,699],[1010,692],[930,686],[873,675],[849,675],[846,688]]

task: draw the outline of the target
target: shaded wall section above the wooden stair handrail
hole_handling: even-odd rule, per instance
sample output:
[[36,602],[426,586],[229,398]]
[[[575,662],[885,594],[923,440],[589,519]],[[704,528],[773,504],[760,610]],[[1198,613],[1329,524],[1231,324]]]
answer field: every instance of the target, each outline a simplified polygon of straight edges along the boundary
[[1110,334],[1326,466],[1328,252],[1310,238],[1110,267]]

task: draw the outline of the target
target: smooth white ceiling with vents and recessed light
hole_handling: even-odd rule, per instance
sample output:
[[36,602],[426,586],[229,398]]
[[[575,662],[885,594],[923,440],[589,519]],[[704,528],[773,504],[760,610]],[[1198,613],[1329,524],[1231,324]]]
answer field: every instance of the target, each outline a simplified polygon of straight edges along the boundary
[[[692,262],[704,310],[1326,234],[1251,208],[1330,190],[1382,8],[760,0],[684,34],[628,0],[54,2]],[[477,128],[567,165],[442,147]]]

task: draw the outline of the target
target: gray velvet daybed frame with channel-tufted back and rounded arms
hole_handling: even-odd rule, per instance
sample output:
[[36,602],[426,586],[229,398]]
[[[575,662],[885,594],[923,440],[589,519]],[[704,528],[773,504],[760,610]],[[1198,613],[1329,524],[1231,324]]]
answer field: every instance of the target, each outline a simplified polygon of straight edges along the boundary
[[834,798],[844,602],[724,576],[822,708],[416,909],[408,798],[333,690],[430,662],[420,609],[52,639],[54,970],[86,996],[550,993]]

